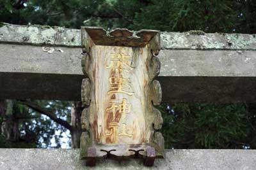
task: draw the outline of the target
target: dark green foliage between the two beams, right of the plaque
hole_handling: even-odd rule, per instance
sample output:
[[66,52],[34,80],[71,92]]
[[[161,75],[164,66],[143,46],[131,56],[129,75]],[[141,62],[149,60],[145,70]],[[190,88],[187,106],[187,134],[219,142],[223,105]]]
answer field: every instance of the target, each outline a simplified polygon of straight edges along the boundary
[[245,104],[173,104],[161,107],[166,148],[256,148],[255,113]]

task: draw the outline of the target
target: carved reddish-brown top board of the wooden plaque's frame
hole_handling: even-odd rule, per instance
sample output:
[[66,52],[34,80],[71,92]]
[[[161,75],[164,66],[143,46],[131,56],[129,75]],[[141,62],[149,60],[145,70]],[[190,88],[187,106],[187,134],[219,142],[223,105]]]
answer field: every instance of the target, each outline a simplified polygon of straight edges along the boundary
[[[106,46],[130,46],[130,47],[145,47],[152,38],[159,34],[159,31],[150,29],[141,29],[140,31],[129,31],[124,28],[116,28],[111,31],[106,31],[102,27],[81,27],[82,29],[82,46],[95,45]],[[89,45],[90,44],[90,45]],[[86,52],[90,49],[84,49]]]

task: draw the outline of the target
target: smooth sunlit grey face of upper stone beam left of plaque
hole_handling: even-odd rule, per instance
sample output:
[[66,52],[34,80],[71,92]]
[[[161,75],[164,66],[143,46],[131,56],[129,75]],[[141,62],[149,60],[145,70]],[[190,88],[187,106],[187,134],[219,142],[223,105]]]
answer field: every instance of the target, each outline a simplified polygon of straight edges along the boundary
[[0,44],[0,72],[83,74],[81,48],[47,53],[41,46]]

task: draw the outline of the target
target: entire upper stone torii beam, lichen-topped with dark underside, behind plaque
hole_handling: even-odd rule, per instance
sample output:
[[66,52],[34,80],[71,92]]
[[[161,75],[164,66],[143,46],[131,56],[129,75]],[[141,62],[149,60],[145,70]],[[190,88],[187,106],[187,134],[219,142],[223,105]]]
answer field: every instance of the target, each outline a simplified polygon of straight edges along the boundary
[[[254,102],[253,34],[161,32],[163,102]],[[80,100],[81,32],[43,25],[0,27],[0,98]]]

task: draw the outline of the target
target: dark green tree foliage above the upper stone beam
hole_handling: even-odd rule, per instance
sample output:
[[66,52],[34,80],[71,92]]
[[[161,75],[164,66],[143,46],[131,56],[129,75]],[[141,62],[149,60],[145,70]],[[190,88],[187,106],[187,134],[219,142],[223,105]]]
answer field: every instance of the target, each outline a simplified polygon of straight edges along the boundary
[[81,25],[106,29],[255,33],[254,0],[0,0],[0,20],[12,24]]

